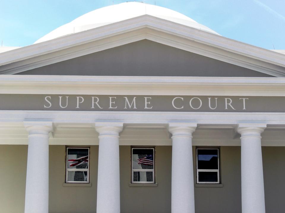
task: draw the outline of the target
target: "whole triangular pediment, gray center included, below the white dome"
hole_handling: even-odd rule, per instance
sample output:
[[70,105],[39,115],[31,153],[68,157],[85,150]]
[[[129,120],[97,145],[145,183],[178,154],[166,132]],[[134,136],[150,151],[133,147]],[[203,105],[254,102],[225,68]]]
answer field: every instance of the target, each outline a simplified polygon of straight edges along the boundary
[[285,56],[142,15],[1,53],[0,74],[285,77]]

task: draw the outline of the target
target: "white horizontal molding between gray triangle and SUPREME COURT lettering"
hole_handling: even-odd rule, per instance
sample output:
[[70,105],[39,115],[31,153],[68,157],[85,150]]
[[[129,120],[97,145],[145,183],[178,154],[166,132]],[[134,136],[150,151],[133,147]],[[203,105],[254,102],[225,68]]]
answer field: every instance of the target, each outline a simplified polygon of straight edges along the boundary
[[285,96],[285,78],[270,77],[0,75],[0,81],[2,94]]

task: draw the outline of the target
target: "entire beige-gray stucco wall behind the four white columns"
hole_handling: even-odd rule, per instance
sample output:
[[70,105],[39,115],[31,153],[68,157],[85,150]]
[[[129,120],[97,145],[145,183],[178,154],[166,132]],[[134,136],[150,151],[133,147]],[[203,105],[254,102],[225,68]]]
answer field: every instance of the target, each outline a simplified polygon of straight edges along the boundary
[[[1,212],[23,213],[26,182],[26,145],[0,145]],[[156,146],[157,187],[130,187],[131,147],[120,146],[121,213],[171,212],[171,146]],[[66,187],[65,146],[50,146],[50,213],[96,212],[98,146],[90,150],[91,187]],[[284,212],[285,147],[262,147],[267,212]],[[195,147],[193,147],[195,172]],[[223,187],[195,187],[196,213],[240,213],[240,147],[221,146]],[[195,175],[194,175],[195,177]]]

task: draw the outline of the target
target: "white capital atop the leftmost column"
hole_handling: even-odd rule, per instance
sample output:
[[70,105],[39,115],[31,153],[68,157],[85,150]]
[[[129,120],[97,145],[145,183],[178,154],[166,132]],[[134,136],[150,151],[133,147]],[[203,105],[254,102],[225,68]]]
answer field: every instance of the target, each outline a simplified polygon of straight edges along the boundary
[[28,131],[29,135],[43,134],[48,135],[53,131],[53,122],[42,121],[24,121],[24,127]]

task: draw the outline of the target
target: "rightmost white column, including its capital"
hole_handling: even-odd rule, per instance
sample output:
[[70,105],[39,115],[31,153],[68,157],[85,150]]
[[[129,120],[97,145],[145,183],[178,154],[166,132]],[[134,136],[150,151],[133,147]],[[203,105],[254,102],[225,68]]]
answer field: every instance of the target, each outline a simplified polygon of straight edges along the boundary
[[265,213],[261,136],[266,125],[239,124],[243,213]]

